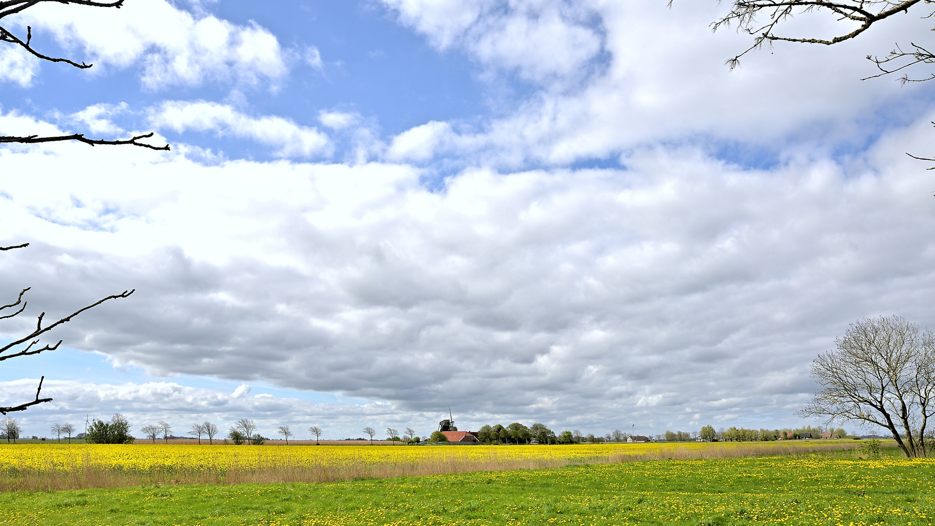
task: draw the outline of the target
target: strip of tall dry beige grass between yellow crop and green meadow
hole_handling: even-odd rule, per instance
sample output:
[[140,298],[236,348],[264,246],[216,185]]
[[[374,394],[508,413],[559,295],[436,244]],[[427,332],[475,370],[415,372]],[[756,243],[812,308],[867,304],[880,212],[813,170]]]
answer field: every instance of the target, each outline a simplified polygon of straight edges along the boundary
[[[91,462],[87,453],[75,457],[65,466],[38,465],[30,469],[19,469],[0,476],[0,491],[53,491],[81,490],[91,488],[121,488],[141,485],[174,484],[241,484],[274,482],[335,482],[356,478],[388,478],[396,476],[425,476],[475,471],[503,471],[512,469],[556,468],[572,464],[609,464],[617,462],[639,462],[651,460],[723,459],[769,455],[802,456],[833,451],[852,451],[859,443],[852,441],[815,441],[808,446],[801,443],[773,442],[749,444],[708,444],[705,448],[689,445],[666,444],[645,445],[646,448],[630,448],[628,452],[609,452],[587,458],[516,458],[515,455],[500,455],[501,448],[491,448],[482,460],[469,460],[457,454],[463,447],[439,447],[450,450],[450,454],[434,455],[415,461],[402,462],[384,460],[379,463],[330,462],[328,459],[308,462],[290,462],[288,454],[275,460],[257,462],[250,467],[232,464],[223,470],[214,469],[167,469],[156,468],[133,471],[114,467],[102,467]],[[172,446],[168,446],[171,448]],[[506,452],[511,447],[502,447]],[[542,446],[539,448],[589,448],[589,446]]]

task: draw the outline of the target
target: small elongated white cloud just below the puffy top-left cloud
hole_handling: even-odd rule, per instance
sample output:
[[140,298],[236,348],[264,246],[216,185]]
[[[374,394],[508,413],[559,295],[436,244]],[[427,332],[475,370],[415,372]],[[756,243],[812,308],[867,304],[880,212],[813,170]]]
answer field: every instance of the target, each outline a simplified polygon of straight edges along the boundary
[[277,148],[281,157],[329,155],[328,136],[315,128],[301,126],[281,117],[251,117],[234,107],[213,102],[167,101],[151,111],[150,123],[157,129],[176,132],[194,130],[249,138]]

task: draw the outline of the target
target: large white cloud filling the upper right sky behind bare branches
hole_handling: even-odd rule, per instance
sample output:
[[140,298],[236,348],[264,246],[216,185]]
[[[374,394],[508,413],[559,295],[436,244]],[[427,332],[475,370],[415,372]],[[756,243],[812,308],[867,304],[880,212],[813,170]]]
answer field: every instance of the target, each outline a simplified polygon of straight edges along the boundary
[[[827,46],[777,43],[729,71],[726,59],[752,36],[708,22],[726,5],[561,0],[447,2],[384,0],[399,20],[439,48],[456,48],[486,70],[532,80],[536,92],[504,103],[480,131],[449,137],[468,163],[516,169],[614,158],[658,141],[712,141],[782,149],[798,141],[862,145],[878,133],[881,112],[918,114],[927,105],[874,73],[870,52],[905,35],[928,34],[928,21],[899,17],[873,34]],[[826,35],[831,18],[803,15],[790,31]],[[503,74],[493,78],[501,79]],[[495,82],[496,84],[496,82]],[[512,107],[510,106],[512,104]],[[832,147],[834,148],[834,147]]]

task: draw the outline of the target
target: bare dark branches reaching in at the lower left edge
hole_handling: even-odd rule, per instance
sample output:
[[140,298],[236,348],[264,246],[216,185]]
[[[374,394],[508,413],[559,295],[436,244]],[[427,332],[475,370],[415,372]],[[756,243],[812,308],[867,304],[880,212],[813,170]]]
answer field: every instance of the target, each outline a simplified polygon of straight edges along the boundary
[[[0,3],[0,6],[2,6],[2,3]],[[0,251],[6,251],[6,250],[11,250],[11,249],[24,249],[28,246],[29,246],[29,243],[23,243],[22,245],[16,245],[13,247],[0,247]],[[20,291],[15,302],[4,305],[4,306],[0,306],[0,320],[8,320],[10,318],[14,318],[22,314],[23,311],[25,311],[26,305],[29,302],[23,301],[22,297],[30,289],[31,287],[26,287],[25,289]],[[54,321],[50,323],[49,325],[46,325],[45,327],[42,326],[42,321],[45,318],[46,313],[43,312],[39,314],[38,319],[36,320],[35,331],[32,331],[31,333],[26,334],[25,336],[16,338],[13,341],[7,343],[6,345],[0,347],[0,362],[3,362],[4,360],[9,360],[10,358],[18,358],[20,356],[32,356],[34,354],[39,354],[40,352],[43,352],[46,350],[57,349],[59,345],[62,344],[62,340],[59,340],[54,345],[46,344],[44,346],[38,347],[39,340],[40,340],[39,336],[41,336],[42,334],[48,333],[49,331],[58,327],[59,325],[62,325],[68,321],[71,321],[72,318],[78,316],[85,310],[94,308],[95,306],[99,306],[108,300],[113,300],[116,298],[125,298],[129,296],[130,294],[132,294],[134,291],[122,291],[122,293],[120,294],[109,295],[108,297],[100,299],[89,306],[81,307],[75,312],[69,314],[68,316],[65,316],[65,318],[58,320],[58,321]],[[17,309],[17,307],[19,307],[19,309]],[[11,310],[16,309],[16,310],[12,312],[7,311],[10,313],[6,314],[4,311],[6,311],[7,309],[11,309]],[[25,346],[25,347],[21,347],[21,346]],[[9,352],[9,354],[4,354],[6,352]],[[43,404],[45,402],[51,402],[52,401],[51,398],[39,398],[39,395],[42,392],[42,382],[45,381],[45,379],[46,379],[45,376],[39,378],[39,387],[36,388],[36,398],[34,400],[25,402],[20,405],[11,405],[8,407],[0,406],[0,414],[6,415],[7,413],[12,413],[14,411],[25,411],[26,409],[28,409],[29,407],[33,405]]]

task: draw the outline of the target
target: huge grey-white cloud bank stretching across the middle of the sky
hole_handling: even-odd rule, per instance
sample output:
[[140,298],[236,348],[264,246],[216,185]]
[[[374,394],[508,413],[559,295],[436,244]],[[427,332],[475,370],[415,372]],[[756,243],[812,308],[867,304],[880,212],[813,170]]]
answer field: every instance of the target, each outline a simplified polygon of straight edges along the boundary
[[902,154],[930,119],[847,163],[639,149],[437,192],[393,164],[4,149],[36,176],[5,180],[0,224],[36,242],[0,258],[0,289],[53,316],[136,288],[59,337],[157,375],[452,403],[470,425],[780,425],[848,322],[935,315],[930,180]]

